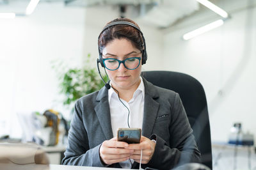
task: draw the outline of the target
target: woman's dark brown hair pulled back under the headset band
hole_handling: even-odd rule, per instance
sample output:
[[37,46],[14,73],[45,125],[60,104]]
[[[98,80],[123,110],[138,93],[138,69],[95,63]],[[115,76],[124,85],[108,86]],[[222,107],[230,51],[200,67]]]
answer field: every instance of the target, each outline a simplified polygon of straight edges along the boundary
[[[115,20],[112,20],[111,22],[108,22],[108,24],[111,24],[112,22],[116,22],[116,21],[131,22],[132,24],[139,27],[138,24],[136,24],[136,22],[134,22],[131,19],[115,19]],[[106,26],[108,24],[106,24]],[[106,30],[102,31],[102,33],[99,35],[98,46],[99,46],[100,53],[102,54],[102,50],[104,49],[104,47],[106,47],[106,45],[109,42],[115,40],[116,38],[117,39],[125,38],[129,40],[132,43],[132,45],[134,45],[134,47],[139,49],[141,52],[144,49],[143,40],[142,40],[140,31],[138,31],[134,27],[120,24],[120,25],[114,25],[114,26],[108,27]]]

